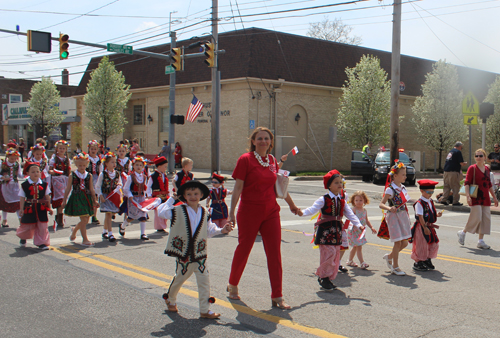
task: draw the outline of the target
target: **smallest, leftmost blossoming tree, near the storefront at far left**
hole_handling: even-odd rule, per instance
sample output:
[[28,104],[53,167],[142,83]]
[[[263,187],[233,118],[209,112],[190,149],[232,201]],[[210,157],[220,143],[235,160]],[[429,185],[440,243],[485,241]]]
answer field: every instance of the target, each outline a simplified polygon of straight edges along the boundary
[[29,125],[40,133],[39,137],[49,136],[64,120],[59,111],[61,95],[52,79],[42,77],[42,81],[31,87],[28,113]]

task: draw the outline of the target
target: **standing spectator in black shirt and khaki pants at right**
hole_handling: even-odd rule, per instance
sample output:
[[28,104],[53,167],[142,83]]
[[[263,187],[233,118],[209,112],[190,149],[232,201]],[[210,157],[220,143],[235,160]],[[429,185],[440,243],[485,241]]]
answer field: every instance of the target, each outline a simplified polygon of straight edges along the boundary
[[448,205],[447,198],[444,196],[449,196],[450,190],[453,191],[453,205],[462,205],[458,192],[460,191],[460,181],[463,177],[462,166],[467,165],[462,156],[462,147],[462,142],[455,143],[455,147],[446,156],[443,175],[443,197],[439,200],[444,205]]

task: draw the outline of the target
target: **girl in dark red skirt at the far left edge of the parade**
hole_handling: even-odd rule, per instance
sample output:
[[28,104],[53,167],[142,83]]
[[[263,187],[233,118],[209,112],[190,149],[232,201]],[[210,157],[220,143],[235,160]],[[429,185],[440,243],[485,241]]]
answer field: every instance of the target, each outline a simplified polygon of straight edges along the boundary
[[7,213],[17,213],[19,217],[19,179],[23,177],[21,165],[18,162],[19,152],[9,148],[5,152],[5,161],[0,170],[0,210],[2,210],[2,227],[8,228]]

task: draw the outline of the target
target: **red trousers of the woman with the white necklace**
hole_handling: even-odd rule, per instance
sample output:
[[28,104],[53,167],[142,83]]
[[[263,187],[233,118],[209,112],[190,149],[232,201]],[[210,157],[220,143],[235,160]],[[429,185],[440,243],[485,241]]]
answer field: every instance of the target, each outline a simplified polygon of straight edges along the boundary
[[240,202],[236,221],[238,223],[238,246],[234,251],[229,284],[239,284],[257,232],[260,231],[271,281],[271,298],[282,297],[281,221],[278,203],[262,205]]

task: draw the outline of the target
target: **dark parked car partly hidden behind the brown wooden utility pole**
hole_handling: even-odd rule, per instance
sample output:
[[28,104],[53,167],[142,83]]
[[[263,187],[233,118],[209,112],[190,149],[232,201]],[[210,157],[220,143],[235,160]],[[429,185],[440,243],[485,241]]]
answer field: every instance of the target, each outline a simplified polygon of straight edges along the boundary
[[[399,152],[399,160],[406,166],[406,184],[415,185],[416,171],[412,160],[403,151]],[[353,150],[351,155],[351,175],[362,176],[363,181],[373,183],[384,183],[390,170],[391,152],[389,150],[377,153],[372,160],[362,151]]]

